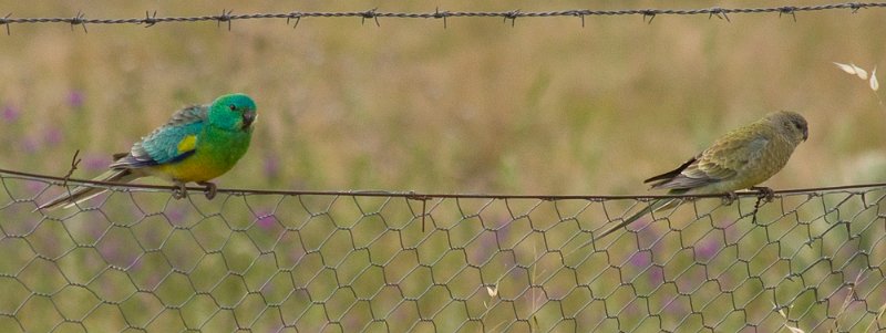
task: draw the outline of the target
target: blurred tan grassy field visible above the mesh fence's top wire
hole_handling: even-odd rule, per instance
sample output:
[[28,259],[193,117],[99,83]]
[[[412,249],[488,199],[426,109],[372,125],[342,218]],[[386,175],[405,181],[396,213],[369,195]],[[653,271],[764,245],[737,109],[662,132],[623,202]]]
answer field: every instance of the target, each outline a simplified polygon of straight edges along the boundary
[[[717,2],[722,7],[764,6]],[[705,8],[713,2],[596,3]],[[161,15],[434,6],[368,1],[293,8],[10,2],[16,17]],[[446,10],[552,10],[470,1]],[[642,194],[723,132],[774,110],[810,119],[810,141],[774,187],[884,179],[886,110],[832,62],[870,70],[886,50],[880,10],[777,14],[521,19],[303,19],[215,23],[14,24],[0,54],[3,167],[89,177],[175,110],[227,92],[255,96],[260,123],[223,186],[434,192]],[[73,101],[72,101],[73,100]],[[109,126],[113,125],[113,126]]]

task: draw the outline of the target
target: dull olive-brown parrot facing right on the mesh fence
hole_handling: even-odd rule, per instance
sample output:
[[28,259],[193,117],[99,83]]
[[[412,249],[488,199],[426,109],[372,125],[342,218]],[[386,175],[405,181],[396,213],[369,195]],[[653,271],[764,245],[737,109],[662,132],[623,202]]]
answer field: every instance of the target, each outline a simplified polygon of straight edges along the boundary
[[[669,195],[734,194],[744,188],[771,194],[772,189],[755,186],[779,173],[787,164],[794,148],[807,137],[808,126],[802,115],[787,111],[773,112],[762,119],[727,133],[678,168],[643,183],[652,183],[655,189],[669,189]],[[639,212],[597,235],[594,240],[599,240],[649,212],[677,207],[681,201],[655,200]],[[581,247],[587,247],[593,241]]]

